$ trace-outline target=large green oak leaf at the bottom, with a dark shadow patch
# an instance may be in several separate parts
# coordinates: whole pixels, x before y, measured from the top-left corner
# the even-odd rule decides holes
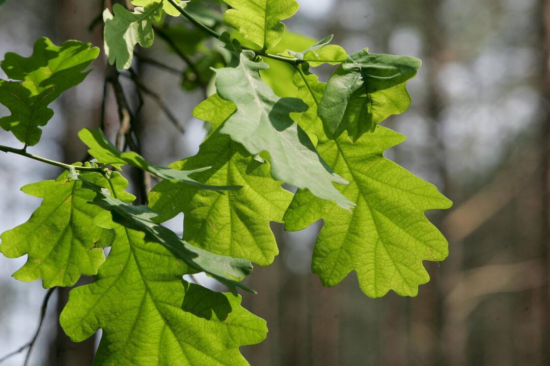
[[[145,233],[116,227],[94,283],[70,291],[59,322],[73,341],[103,335],[94,365],[248,365],[239,347],[266,337],[241,297],[189,284],[188,266]]]

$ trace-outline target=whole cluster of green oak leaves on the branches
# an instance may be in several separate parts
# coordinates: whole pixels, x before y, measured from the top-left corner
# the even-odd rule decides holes
[[[133,10],[115,4],[103,13],[105,52],[119,70],[131,66],[136,44],[151,46],[155,24],[178,52],[199,60],[195,80],[182,74],[184,88],[197,78],[215,88],[194,110],[211,125],[199,153],[155,166],[102,131],[83,129],[94,160],[23,187],[42,205],[1,236],[5,256],[28,256],[19,280],[50,288],[97,275],[70,292],[61,315],[75,341],[103,329],[97,365],[246,364],[238,348],[262,341],[267,328],[240,306],[237,287],[251,291],[240,282],[251,262],[267,266],[278,254],[271,221],[300,230],[323,219],[312,271],[327,286],[355,271],[371,297],[415,296],[429,279],[422,261],[448,254],[424,212],[450,201],[383,156],[405,138],[378,126],[409,108],[405,84],[420,61],[367,49],[348,55],[332,36],[315,43],[285,32],[281,20],[298,10],[295,0],[224,2],[231,8],[223,18],[199,2],[186,11],[188,2],[178,0],[133,0]],[[210,26],[216,40],[210,47],[206,37],[188,40],[196,29],[162,25],[163,12]],[[90,44],[47,38],[29,58],[8,53],[1,66],[12,80],[0,80],[0,103],[11,115],[0,126],[25,149],[35,145],[53,116],[48,104],[83,81],[98,54]],[[322,64],[338,65],[327,83],[310,71]],[[124,166],[160,178],[149,206],[133,204],[126,179],[108,168]],[[183,239],[161,226],[180,212]],[[182,279],[197,272],[231,293]]]

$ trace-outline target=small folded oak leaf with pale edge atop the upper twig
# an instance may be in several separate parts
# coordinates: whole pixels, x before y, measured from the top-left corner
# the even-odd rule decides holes
[[[305,49],[303,52],[287,50],[283,52],[282,55],[288,57],[294,56],[299,60],[306,61],[312,67],[322,64],[341,64],[348,59],[348,53],[337,44],[328,44],[332,41],[333,37],[333,35],[329,35],[313,44],[313,46]]]

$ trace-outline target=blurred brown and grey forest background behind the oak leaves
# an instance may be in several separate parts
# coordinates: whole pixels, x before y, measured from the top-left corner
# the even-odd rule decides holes
[[[218,10],[204,12],[197,2],[191,2],[192,10],[215,26],[220,5],[202,1]],[[392,292],[369,299],[353,273],[330,289],[311,274],[322,223],[299,233],[273,224],[281,254],[270,267],[256,266],[248,279],[260,294],[244,295],[245,307],[267,319],[270,333],[262,344],[244,347],[245,356],[252,365],[266,366],[550,364],[550,1],[299,2],[298,14],[285,21],[290,31],[317,39],[334,33],[334,43],[348,53],[368,47],[423,60],[409,83],[411,108],[384,123],[408,140],[386,156],[454,201],[451,210],[428,212],[449,239],[450,256],[425,262],[432,279],[420,286],[419,296]],[[102,3],[7,0],[0,6],[0,55],[28,56],[41,36],[56,44],[78,39],[102,46],[102,22],[96,18]],[[121,80],[134,110],[139,94],[143,97],[137,115],[142,154],[169,164],[195,154],[206,136],[191,110],[211,89],[208,67],[223,64],[223,55],[200,46],[202,35],[183,20],[172,19],[156,37],[152,48],[139,49],[134,64],[141,93],[129,77]],[[195,70],[174,47],[191,54]],[[56,115],[32,153],[65,162],[85,159],[75,136],[83,127],[100,125],[108,71],[103,53],[93,67],[84,83],[53,104]],[[289,72],[280,65],[273,69]],[[317,71],[326,81],[332,69]],[[5,77],[1,71],[0,77]],[[278,79],[266,75],[276,92],[288,92]],[[112,89],[107,91],[105,123],[112,134],[118,115]],[[157,103],[157,96],[166,105]],[[1,131],[0,144],[20,145]],[[0,232],[25,222],[40,205],[19,188],[59,173],[2,154]],[[168,226],[182,233],[182,221],[180,215]],[[24,262],[0,256],[0,357],[28,342],[40,318],[46,294],[40,281],[10,278]],[[98,336],[73,344],[59,329],[66,297],[67,290],[54,292],[30,365],[91,365]],[[2,366],[22,365],[24,356]]]

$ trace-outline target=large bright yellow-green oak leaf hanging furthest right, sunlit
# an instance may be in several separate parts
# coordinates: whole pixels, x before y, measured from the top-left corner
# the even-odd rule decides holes
[[[301,82],[295,79],[296,86],[301,95],[310,93],[304,100],[316,109],[325,85],[315,75],[303,75]],[[334,162],[335,170],[350,181],[340,191],[357,203],[353,212],[345,212],[306,190],[294,196],[284,216],[287,230],[324,220],[313,251],[312,271],[325,286],[334,286],[356,271],[368,296],[382,297],[389,290],[416,296],[418,286],[430,279],[422,261],[442,261],[448,255],[447,240],[424,212],[448,209],[452,202],[432,184],[382,155],[403,142],[401,134],[378,126],[352,143],[346,133],[335,140],[324,136],[313,113],[304,115],[300,123],[318,136],[321,156]]]

